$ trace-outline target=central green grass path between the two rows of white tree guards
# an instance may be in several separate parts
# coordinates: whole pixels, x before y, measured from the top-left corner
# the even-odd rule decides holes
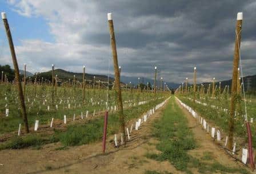
[[[219,164],[208,152],[205,152],[202,159],[189,155],[188,151],[196,148],[197,143],[193,132],[187,126],[185,115],[174,100],[171,98],[162,118],[154,124],[154,136],[159,139],[156,147],[161,154],[146,154],[147,158],[168,160],[176,169],[186,173],[192,173],[191,168],[196,168],[199,173],[249,173],[243,168],[230,168]],[[213,163],[209,163],[209,160]]]

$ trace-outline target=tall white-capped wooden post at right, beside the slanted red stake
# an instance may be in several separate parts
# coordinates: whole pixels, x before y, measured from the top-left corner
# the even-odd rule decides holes
[[[231,100],[230,100],[230,118],[229,118],[229,140],[227,147],[231,150],[233,146],[233,135],[234,135],[234,113],[235,103],[237,96],[237,77],[238,77],[238,65],[239,65],[239,49],[241,43],[241,32],[242,32],[242,20],[243,13],[237,14],[237,26],[235,27],[235,50],[233,60],[233,78],[231,86]]]

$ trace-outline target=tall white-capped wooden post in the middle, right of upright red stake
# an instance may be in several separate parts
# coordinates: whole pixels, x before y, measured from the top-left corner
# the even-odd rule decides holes
[[[115,45],[115,34],[114,34],[114,23],[112,19],[112,14],[107,14],[107,20],[109,22],[110,40],[112,47],[113,63],[115,70],[115,92],[117,93],[118,102],[118,113],[119,113],[119,132],[121,137],[123,136],[124,143],[126,144],[125,138],[125,115],[123,114],[123,103],[122,103],[122,93],[120,88],[120,74],[118,71],[118,59],[117,59],[117,47]]]

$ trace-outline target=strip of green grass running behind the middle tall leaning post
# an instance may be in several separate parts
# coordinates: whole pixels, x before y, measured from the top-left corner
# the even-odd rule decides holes
[[[160,100],[158,101],[160,102]],[[125,121],[133,118],[141,117],[141,115],[151,109],[155,105],[154,102],[145,105],[134,106],[133,109],[124,110]],[[54,130],[53,135],[29,134],[25,136],[15,136],[15,138],[7,140],[0,144],[0,150],[3,149],[20,149],[26,147],[41,148],[44,144],[61,142],[64,147],[80,146],[89,144],[102,139],[104,118],[98,117],[89,120],[87,123],[78,123],[76,125],[67,126],[67,130]],[[109,113],[107,135],[113,135],[119,129],[119,119],[117,113]],[[61,150],[59,148],[57,150]]]

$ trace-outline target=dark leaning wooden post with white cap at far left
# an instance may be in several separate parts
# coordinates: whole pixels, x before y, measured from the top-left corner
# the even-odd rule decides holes
[[[21,113],[22,113],[22,118],[25,126],[25,131],[26,133],[29,133],[29,124],[27,123],[27,112],[26,112],[26,105],[25,105],[25,100],[22,92],[22,85],[21,81],[19,81],[19,67],[18,67],[18,62],[15,54],[15,49],[13,45],[13,38],[11,37],[11,30],[9,27],[8,20],[6,18],[6,14],[2,13],[2,19],[3,19],[3,24],[5,25],[5,30],[6,30],[6,35],[9,41],[9,46],[10,46],[10,51],[11,51],[11,58],[13,59],[13,67],[14,67],[14,72],[15,72],[15,77],[17,79],[17,87],[18,87],[18,94],[19,94],[19,101],[20,101],[20,106],[21,106]]]

